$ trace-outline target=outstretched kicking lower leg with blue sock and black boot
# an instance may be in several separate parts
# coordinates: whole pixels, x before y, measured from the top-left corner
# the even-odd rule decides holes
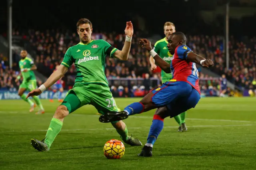
[[[156,109],[156,105],[152,103],[151,97],[154,94],[152,92],[148,93],[140,102],[135,102],[128,105],[124,108],[124,111],[120,112],[110,112],[105,115],[101,115],[99,121],[102,123],[109,123],[114,121],[121,121],[127,119],[130,115],[135,115],[138,113],[143,113],[150,111],[152,109]]]

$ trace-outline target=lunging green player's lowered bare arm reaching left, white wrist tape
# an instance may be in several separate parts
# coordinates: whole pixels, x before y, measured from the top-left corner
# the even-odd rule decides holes
[[[56,71],[54,71],[50,77],[46,80],[46,82],[41,85],[39,88],[32,90],[28,93],[27,97],[30,96],[38,96],[40,95],[43,91],[45,91],[47,88],[51,87],[58,79],[64,76],[64,74],[68,71],[68,68],[65,67],[64,65],[60,65]]]

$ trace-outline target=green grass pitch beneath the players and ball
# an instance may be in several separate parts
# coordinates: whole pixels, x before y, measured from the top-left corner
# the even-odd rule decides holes
[[[120,109],[138,98],[116,99]],[[38,152],[31,138],[43,139],[60,103],[42,100],[43,115],[29,113],[22,100],[0,101],[0,169],[85,170],[255,170],[256,98],[202,98],[187,112],[187,132],[176,132],[174,119],[153,148],[153,157],[138,157],[142,147],[125,144],[120,160],[104,157],[107,140],[120,139],[111,124],[100,123],[94,107],[84,106],[64,119],[50,152]],[[146,142],[153,111],[126,119],[129,134]]]

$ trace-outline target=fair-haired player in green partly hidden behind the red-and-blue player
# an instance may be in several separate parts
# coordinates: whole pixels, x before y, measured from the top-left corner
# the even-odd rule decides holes
[[[154,51],[159,54],[159,56],[164,59],[167,63],[172,62],[172,55],[167,49],[167,39],[168,37],[176,32],[175,26],[172,22],[166,22],[164,24],[164,34],[165,38],[157,41],[154,45]],[[151,70],[156,69],[155,60],[152,56],[150,56],[150,64],[151,64]],[[172,79],[172,73],[165,73],[163,70],[161,71],[161,77],[162,77],[162,83],[165,83],[166,81],[170,81]],[[181,113],[180,115],[174,117],[176,122],[179,124],[178,132],[184,132],[187,130],[186,123],[185,123],[185,117],[186,112]]]

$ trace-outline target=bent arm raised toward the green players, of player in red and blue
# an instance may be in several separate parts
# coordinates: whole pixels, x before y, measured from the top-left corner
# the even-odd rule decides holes
[[[140,39],[140,44],[142,47],[145,47],[152,57],[154,57],[154,60],[156,61],[157,65],[164,70],[166,73],[171,73],[170,64],[164,61],[151,47],[150,41],[148,41],[146,38]]]

